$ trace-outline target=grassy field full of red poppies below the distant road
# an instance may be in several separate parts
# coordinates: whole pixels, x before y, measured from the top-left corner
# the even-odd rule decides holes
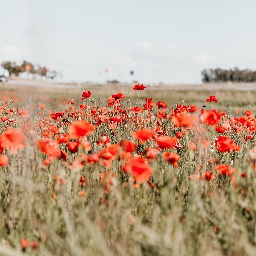
[[[1,92],[0,255],[256,255],[254,96],[129,91]]]

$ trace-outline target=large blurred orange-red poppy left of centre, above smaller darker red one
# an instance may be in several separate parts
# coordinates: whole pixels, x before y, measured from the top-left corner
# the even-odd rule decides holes
[[[92,134],[94,127],[86,121],[76,121],[68,128],[68,134],[72,139]]]

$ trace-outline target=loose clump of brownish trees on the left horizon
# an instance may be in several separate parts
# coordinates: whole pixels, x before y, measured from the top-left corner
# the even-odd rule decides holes
[[[47,67],[34,65],[31,62],[23,60],[21,65],[16,64],[16,62],[4,61],[1,64],[2,68],[5,68],[9,71],[9,74],[12,76],[19,76],[20,73],[28,72],[33,76],[39,75],[41,77],[46,76],[46,73],[49,71]],[[26,67],[29,66],[29,70]]]

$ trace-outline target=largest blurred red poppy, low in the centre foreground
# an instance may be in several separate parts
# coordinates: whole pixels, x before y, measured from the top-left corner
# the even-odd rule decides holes
[[[142,158],[130,158],[126,161],[123,166],[124,172],[128,172],[134,177],[134,180],[141,184],[147,181],[148,178],[153,174],[152,167],[148,164],[145,159]]]

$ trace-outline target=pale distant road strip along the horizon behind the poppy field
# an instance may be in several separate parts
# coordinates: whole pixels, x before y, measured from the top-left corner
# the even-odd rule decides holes
[[[124,88],[130,85],[128,84],[106,84],[106,85],[94,85],[94,84],[82,84],[77,86],[74,84],[62,84],[54,83],[50,81],[42,80],[9,80],[7,83],[0,83],[5,87],[11,86],[20,87],[40,87],[48,89],[81,89],[81,88]],[[238,91],[252,91],[256,90],[256,83],[208,83],[208,84],[163,84],[156,86],[147,86],[147,90],[238,90]]]

